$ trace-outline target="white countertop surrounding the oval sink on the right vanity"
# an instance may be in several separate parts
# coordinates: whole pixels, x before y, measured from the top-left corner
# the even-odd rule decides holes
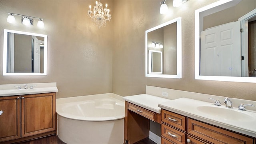
[[[159,103],[158,106],[162,109],[169,110],[171,112],[175,112],[184,116],[188,116],[190,118],[194,118],[196,120],[200,120],[209,124],[213,124],[216,126],[220,126],[222,128],[226,128],[228,130],[233,130],[235,132],[239,132],[242,134],[246,134],[248,136],[256,137],[256,112],[255,111],[241,111],[238,108],[234,108],[232,110],[241,112],[243,114],[250,114],[252,119],[248,120],[226,120],[223,118],[223,113],[220,114],[222,116],[218,116],[218,114],[207,114],[198,110],[198,106],[207,106],[214,108],[225,108],[224,105],[218,107],[213,103],[203,102],[200,100],[194,100],[190,98],[178,98],[176,100],[169,100],[167,102]],[[211,112],[209,112],[211,113]],[[249,117],[250,118],[250,117]]]

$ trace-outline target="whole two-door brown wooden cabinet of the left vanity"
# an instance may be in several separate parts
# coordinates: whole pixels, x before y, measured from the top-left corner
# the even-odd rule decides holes
[[[0,97],[1,144],[56,134],[55,94]]]

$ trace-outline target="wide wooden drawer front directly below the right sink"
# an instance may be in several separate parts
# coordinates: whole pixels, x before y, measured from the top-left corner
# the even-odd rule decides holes
[[[243,136],[188,118],[188,134],[214,144],[253,144],[254,138]]]

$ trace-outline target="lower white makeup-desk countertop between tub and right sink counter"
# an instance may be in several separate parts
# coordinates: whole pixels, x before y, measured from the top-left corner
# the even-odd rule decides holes
[[[161,98],[161,97],[152,96],[149,94],[124,96],[123,99],[126,100],[127,102],[136,104],[138,106],[141,106],[142,108],[146,108],[146,109],[151,110],[152,112],[156,112],[158,114],[161,114],[161,108],[158,107],[158,104],[161,102],[171,101],[170,99],[167,99],[167,98]]]

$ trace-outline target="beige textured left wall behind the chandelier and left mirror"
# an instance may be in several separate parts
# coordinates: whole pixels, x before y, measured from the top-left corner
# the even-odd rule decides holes
[[[108,3],[110,13],[112,1]],[[112,92],[112,21],[105,28],[87,16],[90,0],[0,0],[0,84],[57,82],[57,98]],[[44,18],[44,29],[6,22],[7,12]],[[4,29],[48,35],[47,76],[2,76]]]

